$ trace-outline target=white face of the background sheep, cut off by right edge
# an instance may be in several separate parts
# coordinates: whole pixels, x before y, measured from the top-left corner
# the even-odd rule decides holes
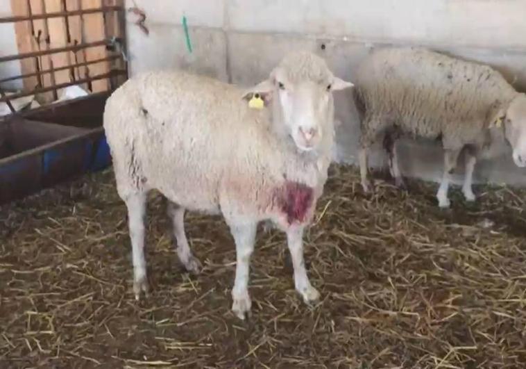
[[[504,117],[506,139],[513,149],[514,162],[518,167],[526,167],[526,95],[516,97]]]

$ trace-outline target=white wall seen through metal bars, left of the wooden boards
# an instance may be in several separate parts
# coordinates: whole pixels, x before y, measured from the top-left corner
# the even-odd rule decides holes
[[[10,0],[0,0],[0,17],[9,17],[10,15],[12,15]],[[0,24],[0,35],[0,56],[18,54],[15,26],[12,23]],[[18,76],[19,74],[20,63],[18,60],[0,64],[0,79]],[[20,90],[22,89],[22,80],[3,83],[2,87],[8,90]]]

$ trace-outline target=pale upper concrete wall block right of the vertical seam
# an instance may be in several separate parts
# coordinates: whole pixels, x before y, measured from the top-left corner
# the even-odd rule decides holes
[[[521,48],[522,0],[226,0],[230,28],[350,40]]]

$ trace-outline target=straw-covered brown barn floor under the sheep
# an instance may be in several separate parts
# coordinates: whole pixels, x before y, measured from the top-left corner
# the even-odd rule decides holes
[[[253,314],[230,313],[235,249],[221,218],[190,214],[205,268],[180,267],[164,202],[148,226],[151,295],[135,302],[126,210],[109,170],[0,208],[1,368],[520,368],[526,362],[526,191],[476,188],[436,207],[332,167],[306,240],[322,293],[294,292],[284,237],[259,233]]]

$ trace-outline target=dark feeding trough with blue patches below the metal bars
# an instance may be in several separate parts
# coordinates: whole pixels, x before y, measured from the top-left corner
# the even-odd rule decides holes
[[[90,95],[3,120],[0,204],[108,166],[102,128],[107,97]]]

